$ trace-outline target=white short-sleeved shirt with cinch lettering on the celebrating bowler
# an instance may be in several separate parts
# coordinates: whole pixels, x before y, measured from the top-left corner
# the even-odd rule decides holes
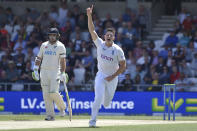
[[[105,41],[99,37],[94,43],[97,47],[98,70],[106,75],[112,75],[118,70],[119,61],[125,60],[123,50],[116,44],[107,47]]]

